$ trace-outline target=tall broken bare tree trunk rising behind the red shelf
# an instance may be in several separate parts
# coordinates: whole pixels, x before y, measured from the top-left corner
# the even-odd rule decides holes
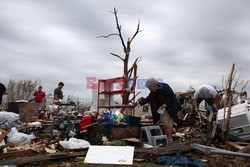
[[[102,36],[99,36],[99,37],[101,37],[101,38],[109,38],[111,36],[118,36],[120,41],[121,41],[124,56],[120,56],[120,55],[115,54],[115,53],[110,53],[110,54],[117,57],[117,58],[119,58],[123,62],[123,77],[127,78],[127,80],[125,81],[123,86],[124,86],[124,88],[130,89],[130,92],[127,92],[124,95],[123,98],[124,98],[124,103],[129,104],[134,98],[134,97],[132,97],[132,99],[129,99],[129,95],[133,91],[135,91],[136,80],[138,78],[138,76],[137,76],[137,65],[141,61],[141,57],[137,57],[135,59],[134,63],[132,64],[132,66],[129,68],[128,64],[129,64],[129,56],[130,56],[130,51],[131,51],[131,43],[134,40],[134,38],[137,36],[137,34],[142,31],[142,30],[140,30],[140,20],[138,21],[137,28],[136,28],[136,31],[133,34],[133,36],[129,37],[127,39],[127,42],[125,42],[125,40],[123,38],[123,35],[122,35],[122,26],[120,25],[119,19],[118,19],[118,14],[117,14],[118,10],[116,10],[116,8],[114,8],[114,10],[110,11],[110,12],[115,15],[117,33],[111,33],[111,34],[102,35]],[[132,78],[132,80],[131,80],[131,78]],[[129,84],[131,82],[132,82],[132,84]],[[130,86],[130,87],[128,87],[128,86]]]

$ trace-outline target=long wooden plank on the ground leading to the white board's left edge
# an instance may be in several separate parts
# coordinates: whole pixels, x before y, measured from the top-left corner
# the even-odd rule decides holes
[[[58,159],[66,159],[66,158],[72,158],[72,157],[81,157],[85,156],[87,154],[86,151],[84,152],[75,152],[75,153],[61,153],[61,154],[55,154],[55,155],[35,155],[31,157],[22,157],[22,158],[15,158],[15,159],[9,159],[0,161],[0,165],[16,165],[16,166],[23,166],[28,164],[34,164],[34,163],[40,163],[45,161],[51,161],[51,160],[58,160]]]

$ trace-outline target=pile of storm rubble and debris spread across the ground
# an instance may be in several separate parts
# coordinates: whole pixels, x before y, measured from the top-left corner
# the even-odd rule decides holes
[[[44,162],[63,160],[62,166],[77,163],[81,166],[89,148],[94,145],[107,149],[109,146],[131,146],[134,148],[132,161],[142,166],[144,163],[164,163],[159,157],[171,159],[180,156],[190,162],[199,160],[200,165],[243,166],[250,163],[249,142],[223,142],[219,133],[211,139],[205,112],[194,117],[181,112],[174,124],[174,142],[156,146],[143,143],[140,134],[141,126],[152,124],[148,115],[130,126],[111,125],[104,121],[105,116],[96,120],[92,112],[82,115],[79,112],[59,112],[51,119],[24,123],[19,114],[1,111],[0,118],[0,165],[42,166]]]

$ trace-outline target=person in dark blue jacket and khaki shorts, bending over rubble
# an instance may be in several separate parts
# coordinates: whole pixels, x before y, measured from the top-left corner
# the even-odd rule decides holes
[[[168,84],[149,78],[145,85],[150,93],[146,98],[141,98],[139,104],[143,106],[150,103],[154,124],[160,120],[168,141],[172,142],[173,120],[177,118],[181,105]],[[164,112],[159,114],[157,112],[159,109],[164,110]]]

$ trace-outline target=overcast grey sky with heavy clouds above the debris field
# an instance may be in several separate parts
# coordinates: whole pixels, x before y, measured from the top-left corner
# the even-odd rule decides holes
[[[86,77],[123,72],[110,55],[123,54],[119,39],[96,38],[116,32],[114,7],[125,39],[141,20],[131,52],[131,63],[143,58],[140,78],[163,78],[174,91],[220,89],[236,63],[250,79],[249,0],[0,0],[0,82],[37,79],[51,91],[63,81],[65,94],[90,99]]]

